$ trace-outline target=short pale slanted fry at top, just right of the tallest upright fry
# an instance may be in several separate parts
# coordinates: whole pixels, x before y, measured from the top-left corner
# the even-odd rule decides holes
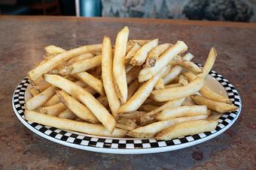
[[[158,44],[158,38],[151,40],[148,43],[145,43],[145,45],[143,45],[137,52],[136,55],[134,55],[134,57],[132,58],[132,60],[130,61],[130,64],[136,65],[136,66],[140,66],[142,65],[147,56],[148,53],[151,52],[151,49],[153,49],[155,46],[157,46]]]

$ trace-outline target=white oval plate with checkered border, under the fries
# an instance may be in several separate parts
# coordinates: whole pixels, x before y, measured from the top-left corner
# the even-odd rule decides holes
[[[235,112],[226,112],[218,119],[218,126],[212,132],[200,133],[193,136],[183,136],[169,141],[158,141],[156,139],[131,139],[131,138],[108,138],[102,136],[90,136],[84,133],[72,132],[69,130],[59,130],[55,127],[47,127],[41,124],[26,121],[24,119],[25,99],[29,98],[29,81],[27,78],[20,82],[14,91],[12,105],[17,118],[32,132],[45,139],[87,151],[95,151],[111,154],[150,154],[166,151],[174,151],[187,148],[206,142],[215,136],[224,133],[236,121],[241,112],[241,99],[236,88],[227,79],[215,71],[211,71],[211,76],[207,76],[206,84],[215,92],[227,96],[235,106]]]

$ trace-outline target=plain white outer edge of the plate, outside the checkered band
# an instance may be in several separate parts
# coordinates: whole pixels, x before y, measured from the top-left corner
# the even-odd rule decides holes
[[[218,74],[214,70],[211,70],[211,73],[215,73],[216,75],[221,76],[220,74]],[[212,76],[211,73],[209,73],[210,76]],[[212,76],[212,78],[219,82],[219,80],[216,79],[214,76]],[[22,81],[20,81],[20,84],[25,79],[26,78],[24,78]],[[221,79],[225,79],[224,76],[221,76]],[[230,82],[228,82],[228,80],[227,80],[227,83],[230,84]],[[221,82],[219,82],[219,84],[227,92],[227,90],[224,87],[224,85],[222,85]],[[98,153],[108,153],[108,154],[154,154],[154,153],[160,153],[160,152],[166,152],[166,151],[175,151],[175,150],[182,149],[182,148],[187,148],[187,147],[190,147],[190,146],[193,146],[193,145],[198,145],[200,143],[209,141],[209,140],[215,138],[216,136],[219,136],[221,133],[224,133],[224,131],[228,130],[235,123],[235,121],[239,117],[240,112],[242,110],[242,100],[241,100],[241,97],[240,97],[238,91],[236,90],[236,88],[232,84],[230,84],[236,90],[237,96],[239,97],[239,109],[238,109],[238,111],[236,111],[236,117],[233,118],[233,120],[230,121],[230,123],[228,123],[225,127],[221,128],[221,130],[218,130],[218,131],[216,131],[215,133],[212,133],[209,136],[205,136],[205,137],[203,137],[201,139],[197,139],[197,140],[194,140],[192,142],[180,143],[178,145],[166,145],[166,146],[157,147],[157,148],[99,148],[99,147],[96,147],[96,146],[81,145],[81,144],[78,145],[78,144],[75,144],[75,143],[72,143],[72,142],[62,141],[62,140],[56,139],[56,138],[54,138],[52,136],[48,136],[47,134],[42,133],[41,131],[37,130],[35,127],[32,127],[32,125],[29,124],[29,122],[26,121],[20,115],[19,112],[17,112],[17,108],[14,105],[14,95],[17,92],[17,88],[19,87],[19,85],[17,85],[17,87],[15,88],[13,96],[12,96],[12,107],[14,109],[15,115],[21,121],[21,123],[23,125],[25,125],[25,127],[27,127],[29,130],[31,130],[36,135],[41,136],[44,139],[50,140],[51,142],[55,142],[55,143],[58,143],[60,145],[65,145],[65,146],[72,147],[72,148],[77,148],[77,149],[81,149],[81,150],[85,150],[85,151],[94,151],[94,152],[98,152]],[[56,129],[58,129],[58,128],[56,128]],[[84,134],[84,135],[86,136],[86,134]],[[99,139],[100,139],[100,137],[101,136],[99,136]],[[130,139],[130,140],[134,140],[134,139]]]

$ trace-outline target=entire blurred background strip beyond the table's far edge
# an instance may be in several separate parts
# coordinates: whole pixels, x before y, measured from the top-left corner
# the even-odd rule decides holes
[[[256,0],[0,0],[0,14],[256,22]]]

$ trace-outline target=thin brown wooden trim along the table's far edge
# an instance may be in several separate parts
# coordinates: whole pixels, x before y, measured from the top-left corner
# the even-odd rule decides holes
[[[0,16],[0,19],[26,19],[26,20],[84,20],[96,22],[126,22],[126,23],[159,23],[174,25],[203,25],[234,28],[256,28],[256,23],[250,22],[221,22],[221,21],[200,21],[181,19],[145,19],[145,18],[108,18],[108,17],[77,17],[77,16]]]

